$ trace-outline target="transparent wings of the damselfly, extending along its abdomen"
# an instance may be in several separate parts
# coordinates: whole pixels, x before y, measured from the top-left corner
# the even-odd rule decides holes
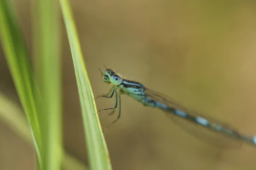
[[[169,96],[160,94],[150,89],[145,89],[144,92],[148,98],[156,102],[160,102],[169,108],[174,108],[185,112],[189,119],[183,116],[179,116],[173,112],[165,111],[166,116],[168,116],[172,122],[180,126],[183,130],[191,133],[198,139],[201,139],[202,141],[223,148],[241,147],[243,141],[256,145],[254,137],[245,136],[242,133],[238,133],[235,129],[228,125],[218,122],[215,119],[209,118],[197,111],[192,111],[183,105],[180,105],[177,101],[170,98]],[[206,126],[196,122],[194,118],[198,117],[207,120],[209,125]]]

